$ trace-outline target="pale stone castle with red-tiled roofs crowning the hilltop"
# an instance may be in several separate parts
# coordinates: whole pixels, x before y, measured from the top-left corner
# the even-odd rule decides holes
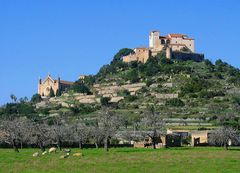
[[[134,53],[123,57],[123,61],[126,63],[132,61],[145,63],[149,57],[156,56],[163,50],[166,51],[168,59],[172,58],[172,52],[185,51],[195,54],[195,40],[185,34],[160,36],[159,31],[152,31],[149,35],[149,47],[135,48]]]

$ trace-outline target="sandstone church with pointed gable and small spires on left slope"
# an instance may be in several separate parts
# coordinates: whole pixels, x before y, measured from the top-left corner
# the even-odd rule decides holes
[[[51,77],[51,75],[48,75],[44,81],[42,81],[42,79],[39,79],[38,94],[40,94],[42,97],[47,97],[49,96],[50,90],[52,88],[54,94],[56,95],[57,91],[63,92],[71,85],[73,85],[73,82],[61,80],[60,77],[55,80]]]

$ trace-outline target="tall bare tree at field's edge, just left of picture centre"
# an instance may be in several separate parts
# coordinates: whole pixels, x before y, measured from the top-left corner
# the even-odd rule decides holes
[[[102,107],[98,121],[99,128],[104,136],[104,149],[108,151],[109,139],[116,134],[117,129],[121,125],[121,121],[119,121],[119,116],[108,107]]]

